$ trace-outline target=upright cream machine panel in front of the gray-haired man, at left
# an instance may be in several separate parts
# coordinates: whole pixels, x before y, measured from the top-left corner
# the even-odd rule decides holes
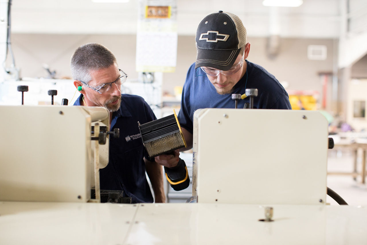
[[[1,106],[0,115],[0,201],[90,199],[90,126],[106,109]]]

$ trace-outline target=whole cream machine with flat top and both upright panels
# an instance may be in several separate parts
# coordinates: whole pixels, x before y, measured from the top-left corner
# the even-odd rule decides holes
[[[367,242],[366,206],[326,203],[328,133],[319,112],[197,111],[197,202],[139,204],[87,202],[93,112],[21,105],[0,112],[0,244]],[[39,157],[29,161],[34,151]],[[48,179],[28,181],[42,174]]]

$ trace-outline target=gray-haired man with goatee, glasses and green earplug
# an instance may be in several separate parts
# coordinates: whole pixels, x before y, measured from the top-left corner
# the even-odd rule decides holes
[[[105,107],[109,111],[110,130],[120,129],[119,138],[110,138],[109,163],[100,169],[101,190],[119,190],[133,203],[153,202],[145,171],[156,202],[165,202],[163,171],[149,159],[143,146],[138,121],[156,119],[142,97],[121,94],[127,74],[119,69],[115,55],[97,43],[77,48],[70,61],[74,85],[80,96],[74,105]]]

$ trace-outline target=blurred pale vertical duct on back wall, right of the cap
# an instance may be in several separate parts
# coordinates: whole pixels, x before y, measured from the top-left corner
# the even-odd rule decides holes
[[[279,8],[269,7],[269,36],[266,40],[266,55],[274,59],[280,52],[280,20]]]

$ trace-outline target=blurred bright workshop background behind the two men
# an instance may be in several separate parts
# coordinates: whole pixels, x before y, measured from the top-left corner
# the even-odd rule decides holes
[[[162,33],[160,25],[165,21],[162,19],[155,23],[158,27],[153,33],[155,38],[160,35],[162,38],[156,45],[173,44],[159,50],[160,57],[171,57],[172,52],[177,55],[171,72],[137,71],[141,65],[137,53],[142,52],[137,48],[137,37],[146,34],[141,31],[142,25],[147,24],[141,13],[147,3],[171,6],[170,30]],[[0,104],[20,104],[19,92],[11,84],[34,84],[37,88],[32,91],[29,85],[25,104],[49,104],[50,98],[44,91],[55,87],[59,90],[55,104],[61,104],[64,98],[61,95],[75,100],[72,100],[75,87],[68,80],[70,57],[78,46],[97,42],[116,55],[120,69],[128,74],[124,92],[144,97],[157,118],[171,114],[172,108],[178,112],[186,72],[196,58],[197,25],[210,12],[232,12],[247,29],[251,43],[248,60],[275,75],[288,91],[293,109],[320,110],[329,120],[335,148],[329,150],[327,186],[350,205],[366,205],[362,167],[367,148],[367,2],[305,0],[299,7],[269,7],[262,3],[262,0],[126,3],[13,0],[12,52],[8,52],[3,63],[9,72],[0,81]],[[153,51],[146,48],[144,53]],[[15,81],[19,79],[22,81]],[[30,94],[39,96],[34,100]],[[182,158],[190,166],[192,154],[182,153]],[[189,189],[167,193],[168,200],[185,201],[191,196]],[[328,201],[333,203],[331,199]]]

